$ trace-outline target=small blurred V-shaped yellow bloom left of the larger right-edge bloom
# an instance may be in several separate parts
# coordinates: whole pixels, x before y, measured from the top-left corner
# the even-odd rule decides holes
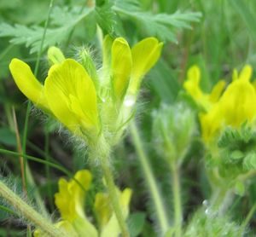
[[[189,67],[187,80],[183,83],[183,87],[200,107],[208,111],[212,105],[218,101],[219,96],[224,90],[225,82],[224,80],[220,80],[218,84],[212,88],[211,93],[207,94],[201,90],[200,81],[200,68],[196,65],[191,66]]]

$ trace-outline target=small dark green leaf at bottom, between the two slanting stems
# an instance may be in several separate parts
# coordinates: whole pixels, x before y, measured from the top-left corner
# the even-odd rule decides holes
[[[131,237],[135,237],[143,231],[146,215],[144,212],[132,213],[128,218],[128,228]]]

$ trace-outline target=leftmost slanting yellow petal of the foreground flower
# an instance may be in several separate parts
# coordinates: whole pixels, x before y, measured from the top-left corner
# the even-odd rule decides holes
[[[9,64],[9,70],[20,91],[38,107],[48,109],[48,104],[44,97],[44,87],[35,78],[30,66],[24,61],[13,59]]]

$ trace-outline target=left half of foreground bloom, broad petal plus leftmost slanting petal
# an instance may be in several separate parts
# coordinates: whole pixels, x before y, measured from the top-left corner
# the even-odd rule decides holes
[[[73,133],[98,132],[96,90],[79,62],[67,59],[51,66],[44,86],[25,62],[13,59],[9,68],[21,92],[35,105],[54,114]]]

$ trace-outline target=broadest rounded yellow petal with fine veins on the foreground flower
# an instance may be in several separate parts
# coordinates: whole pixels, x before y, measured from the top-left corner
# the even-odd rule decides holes
[[[52,113],[70,130],[97,127],[95,86],[77,61],[67,59],[50,68],[45,95]]]

